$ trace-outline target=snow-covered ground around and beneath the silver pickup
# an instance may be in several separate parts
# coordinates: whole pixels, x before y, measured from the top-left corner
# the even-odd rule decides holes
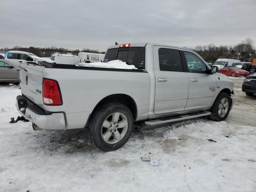
[[[9,124],[18,116],[18,94],[17,86],[0,87],[0,191],[256,191],[254,126],[202,118],[135,130],[124,147],[103,152],[84,130]],[[160,165],[142,162],[142,156]]]

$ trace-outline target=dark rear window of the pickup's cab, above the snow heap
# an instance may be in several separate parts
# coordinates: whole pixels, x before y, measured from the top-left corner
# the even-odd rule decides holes
[[[108,49],[104,62],[121,60],[138,69],[145,69],[145,47],[113,48]]]

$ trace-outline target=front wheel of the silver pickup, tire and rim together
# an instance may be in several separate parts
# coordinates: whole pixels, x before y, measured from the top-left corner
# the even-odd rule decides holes
[[[214,121],[223,121],[227,118],[231,108],[231,98],[226,92],[220,92],[217,96],[210,114],[210,119]]]

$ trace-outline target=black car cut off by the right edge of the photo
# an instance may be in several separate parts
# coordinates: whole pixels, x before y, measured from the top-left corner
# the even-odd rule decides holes
[[[242,85],[242,91],[248,96],[256,94],[256,73],[244,78],[244,83]]]

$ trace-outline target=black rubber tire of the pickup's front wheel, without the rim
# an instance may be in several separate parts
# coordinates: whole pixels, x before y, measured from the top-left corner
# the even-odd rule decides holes
[[[223,98],[226,98],[228,100],[228,111],[226,112],[225,116],[221,117],[218,113],[218,108],[219,108],[220,101]],[[214,101],[214,104],[212,105],[212,108],[211,108],[212,114],[210,114],[209,118],[214,121],[223,121],[227,118],[230,112],[230,108],[231,108],[231,98],[229,94],[227,94],[226,92],[220,92],[220,94],[217,96],[216,100]]]

